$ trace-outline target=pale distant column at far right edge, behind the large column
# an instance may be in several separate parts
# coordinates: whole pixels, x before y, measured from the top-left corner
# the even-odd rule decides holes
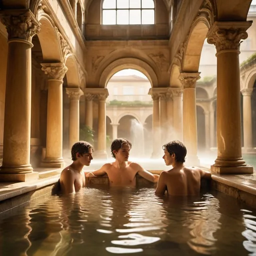
[[[252,151],[252,123],[251,123],[251,93],[253,88],[241,90],[243,101],[243,150]]]

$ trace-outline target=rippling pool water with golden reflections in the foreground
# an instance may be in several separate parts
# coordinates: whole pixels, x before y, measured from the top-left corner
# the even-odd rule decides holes
[[[0,255],[255,255],[256,211],[213,191],[85,188],[0,215]]]

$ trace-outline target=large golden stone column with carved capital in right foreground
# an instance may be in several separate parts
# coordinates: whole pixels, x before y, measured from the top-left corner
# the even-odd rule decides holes
[[[217,57],[217,158],[212,172],[253,173],[241,155],[240,40],[247,37],[251,21],[214,22],[207,42]]]

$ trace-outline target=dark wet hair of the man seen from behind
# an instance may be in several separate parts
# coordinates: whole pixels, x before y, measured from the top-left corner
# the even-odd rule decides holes
[[[185,162],[186,147],[179,140],[172,140],[169,143],[162,146],[162,149],[167,149],[169,154],[175,153],[175,160],[177,162]]]

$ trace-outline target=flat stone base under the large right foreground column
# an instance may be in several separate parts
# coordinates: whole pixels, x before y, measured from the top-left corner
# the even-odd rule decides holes
[[[219,174],[252,174],[253,166],[245,164],[243,166],[227,167],[227,166],[216,166],[213,164],[210,166],[210,170],[213,173],[219,173]]]

